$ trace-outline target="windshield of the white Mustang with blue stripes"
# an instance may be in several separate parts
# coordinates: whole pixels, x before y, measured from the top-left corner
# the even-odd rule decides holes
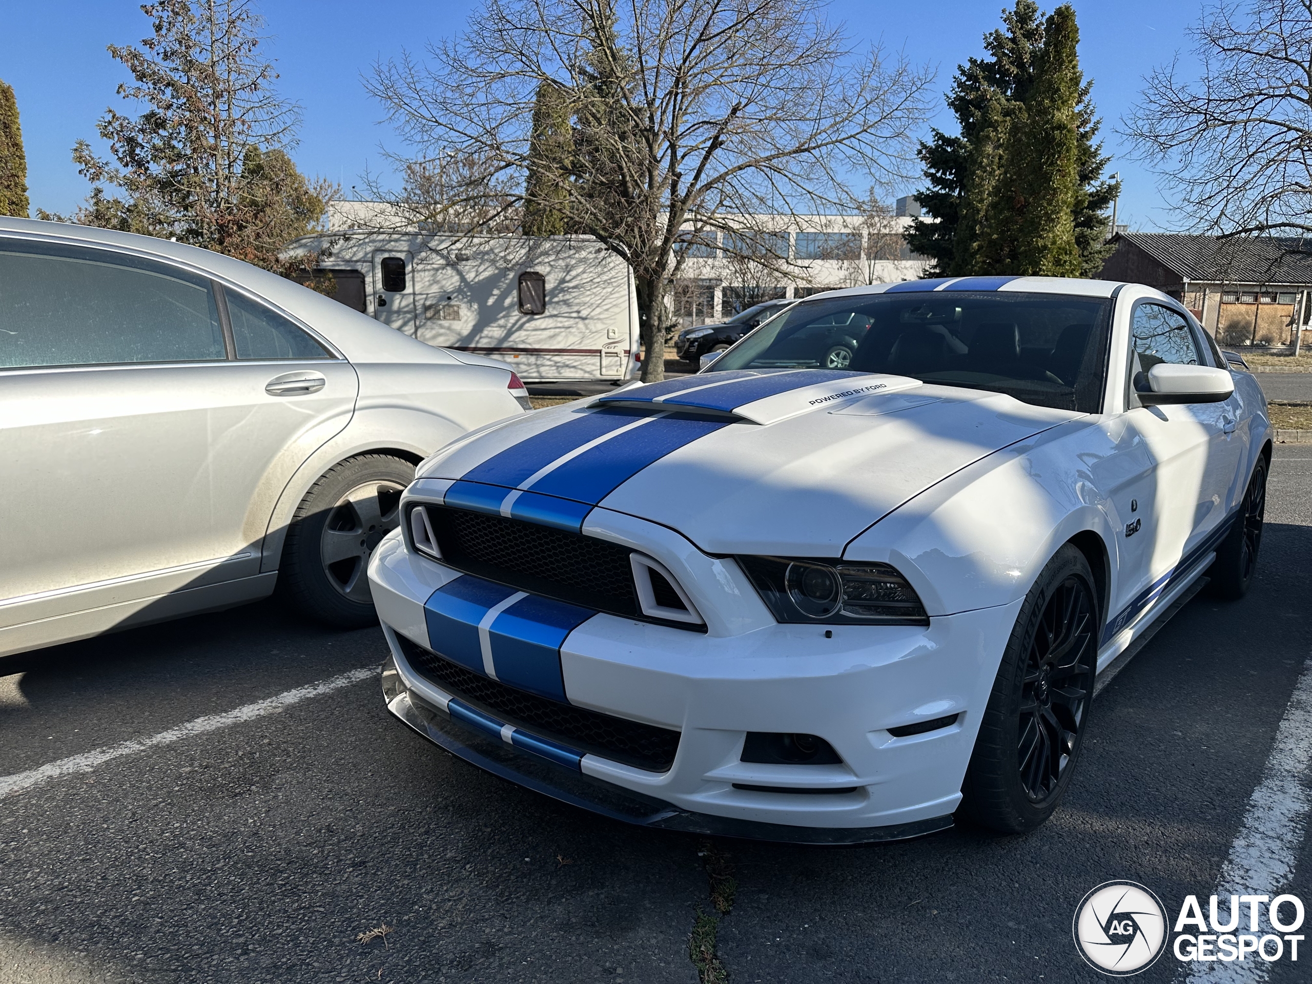
[[[1064,294],[895,291],[804,300],[708,371],[848,369],[1005,392],[1097,413],[1111,300]]]

